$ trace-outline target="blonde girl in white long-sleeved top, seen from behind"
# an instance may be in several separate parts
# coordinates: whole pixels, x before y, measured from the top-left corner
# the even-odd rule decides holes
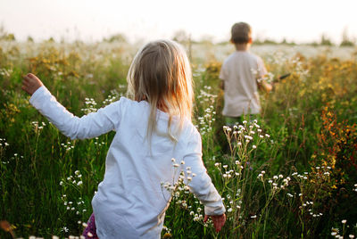
[[[174,159],[176,167],[186,174],[190,167],[195,174],[188,185],[204,204],[204,220],[211,217],[220,231],[225,208],[203,166],[201,136],[191,122],[193,82],[185,51],[169,40],[145,45],[131,63],[128,84],[129,98],[78,118],[35,75],[23,80],[22,89],[32,95],[29,102],[65,136],[83,139],[117,132],[84,235],[160,238],[170,204],[170,192],[162,185],[179,178]]]

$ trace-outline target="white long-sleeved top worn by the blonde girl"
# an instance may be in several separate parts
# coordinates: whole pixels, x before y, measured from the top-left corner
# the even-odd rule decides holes
[[[191,167],[190,190],[204,204],[207,215],[225,212],[220,194],[202,161],[201,136],[186,120],[175,145],[168,136],[153,134],[151,151],[146,140],[150,105],[125,97],[78,118],[40,87],[29,102],[71,139],[91,138],[116,130],[106,156],[104,180],[92,201],[99,238],[160,238],[170,193],[162,183],[173,183],[179,169]],[[159,132],[167,131],[168,115],[157,111]],[[175,120],[174,125],[175,125]],[[95,157],[95,155],[93,155]],[[171,159],[179,168],[174,168]],[[182,165],[180,162],[185,161]]]

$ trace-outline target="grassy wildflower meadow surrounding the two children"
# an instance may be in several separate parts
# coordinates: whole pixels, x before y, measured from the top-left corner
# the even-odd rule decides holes
[[[262,55],[267,80],[291,76],[272,93],[261,93],[257,121],[237,128],[223,128],[220,115],[218,74],[231,46],[189,47],[203,161],[228,219],[217,235],[203,223],[203,205],[179,182],[163,237],[357,235],[357,50],[260,47],[252,51]],[[0,238],[80,235],[114,135],[84,141],[62,136],[29,105],[21,75],[36,73],[81,116],[125,95],[136,50],[108,43],[0,44],[0,220],[10,224],[1,223]]]

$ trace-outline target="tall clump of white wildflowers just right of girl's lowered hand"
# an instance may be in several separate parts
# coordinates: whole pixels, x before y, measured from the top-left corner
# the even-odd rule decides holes
[[[221,194],[225,197],[228,208],[227,235],[256,235],[260,230],[261,220],[267,213],[268,205],[278,194],[281,187],[274,177],[268,179],[266,172],[258,169],[261,162],[256,159],[256,151],[261,144],[266,144],[270,135],[263,132],[255,119],[252,122],[243,121],[243,125],[233,128],[223,127],[229,145],[229,155],[224,155],[223,162],[216,162],[222,179]],[[223,163],[223,164],[222,164]],[[227,164],[226,164],[227,163]],[[262,182],[266,198],[263,207],[257,206],[260,199],[252,200],[253,188],[257,182]],[[254,205],[254,203],[257,203]]]

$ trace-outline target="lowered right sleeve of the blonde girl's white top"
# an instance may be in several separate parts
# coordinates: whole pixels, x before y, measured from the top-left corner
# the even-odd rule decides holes
[[[187,144],[187,154],[184,157],[185,174],[187,177],[192,177],[188,186],[191,192],[203,203],[205,215],[222,215],[226,209],[203,165],[201,136],[196,129],[193,131],[193,135]],[[191,169],[190,175],[187,174],[187,167]]]

